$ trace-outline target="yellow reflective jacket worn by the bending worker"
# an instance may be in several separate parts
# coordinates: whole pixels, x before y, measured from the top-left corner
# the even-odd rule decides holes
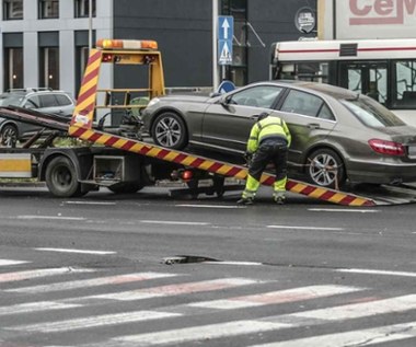
[[[288,147],[290,146],[291,135],[284,119],[268,116],[257,122],[250,132],[247,152],[254,153],[262,140],[276,137],[285,139],[288,142]]]

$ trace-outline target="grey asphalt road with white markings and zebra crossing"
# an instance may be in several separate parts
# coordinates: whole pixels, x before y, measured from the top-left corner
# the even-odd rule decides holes
[[[0,346],[415,346],[415,205],[0,188]]]

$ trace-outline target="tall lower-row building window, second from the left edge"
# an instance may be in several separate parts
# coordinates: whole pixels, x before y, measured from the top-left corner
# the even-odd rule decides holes
[[[41,47],[39,86],[59,89],[59,48]]]

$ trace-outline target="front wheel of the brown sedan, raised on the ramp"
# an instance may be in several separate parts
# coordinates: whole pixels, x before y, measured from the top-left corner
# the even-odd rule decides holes
[[[151,135],[154,143],[171,149],[184,149],[188,141],[184,120],[173,112],[162,113],[154,119]]]

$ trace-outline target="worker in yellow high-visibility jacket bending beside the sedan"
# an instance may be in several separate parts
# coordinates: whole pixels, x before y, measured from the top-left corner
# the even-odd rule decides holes
[[[267,164],[273,162],[276,170],[274,183],[274,200],[285,204],[287,182],[288,148],[291,136],[285,120],[262,113],[254,124],[247,141],[246,157],[249,160],[249,176],[239,205],[252,205],[261,185],[261,176]]]

